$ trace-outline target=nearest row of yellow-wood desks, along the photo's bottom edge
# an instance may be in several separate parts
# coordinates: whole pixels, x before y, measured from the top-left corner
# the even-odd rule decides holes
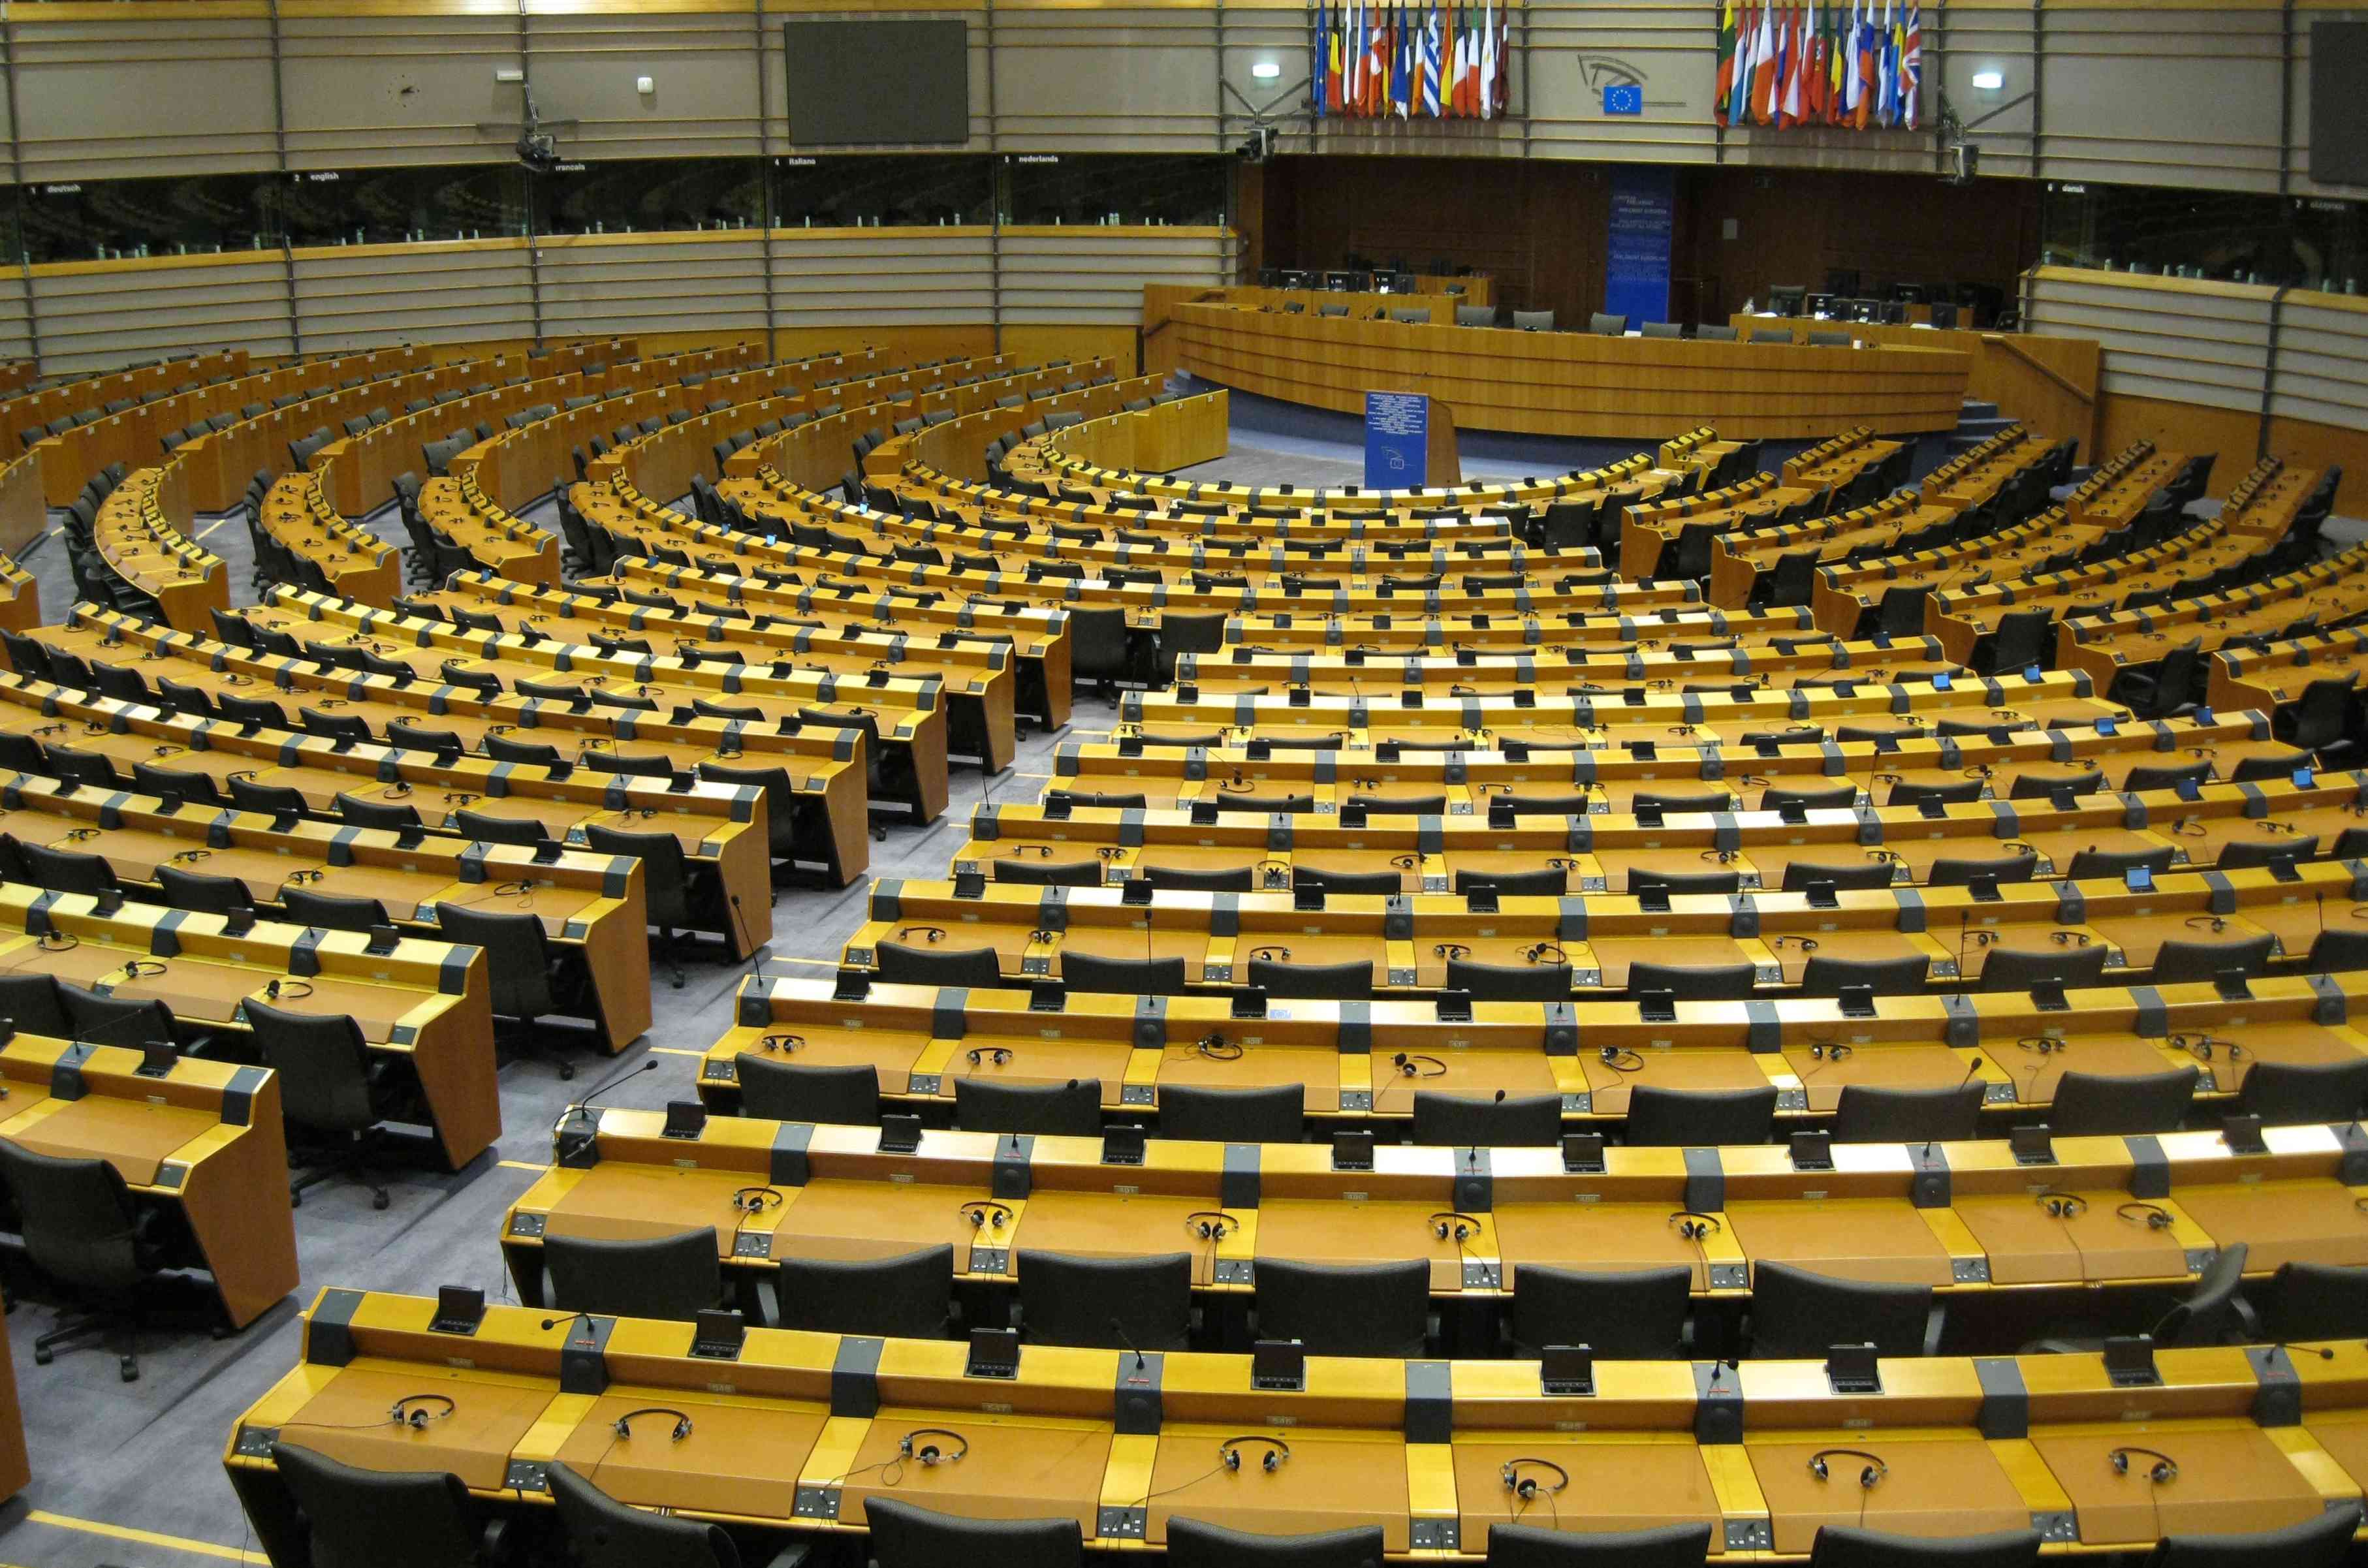
[[[1170,1518],[1255,1532],[1378,1525],[1392,1556],[1478,1561],[1489,1525],[1603,1532],[1703,1523],[1722,1561],[1797,1559],[1819,1525],[1911,1535],[2039,1530],[2051,1549],[2138,1549],[2160,1535],[2266,1530],[2354,1506],[2368,1478],[2368,1352],[2167,1350],[2115,1388],[2100,1357],[1883,1362],[1883,1393],[1833,1393],[1816,1362],[1717,1369],[1606,1362],[1591,1395],[1546,1395],[1537,1362],[1312,1357],[1305,1386],[1253,1388],[1248,1355],[1030,1345],[1016,1379],[964,1376],[964,1345],[751,1329],[729,1362],[691,1355],[691,1324],[583,1319],[542,1329],[488,1307],[466,1334],[436,1300],[324,1291],[303,1360],[249,1407],[225,1466],[272,1561],[303,1525],[272,1445],[386,1471],[443,1469],[488,1504],[535,1514],[554,1461],[675,1516],[798,1532],[860,1530],[871,1497],[971,1518],[1075,1518],[1087,1542],[1160,1547]],[[580,1343],[575,1343],[580,1341]],[[566,1364],[568,1371],[561,1371]],[[2273,1390],[2276,1397],[2264,1397]],[[445,1421],[388,1421],[412,1393]],[[642,1405],[684,1409],[661,1435]],[[921,1428],[959,1464],[895,1464]],[[1265,1445],[1291,1459],[1267,1469]],[[924,1438],[926,1440],[926,1438]],[[1243,1464],[1222,1461],[1241,1440]],[[2174,1454],[2155,1485],[2124,1445]],[[1816,1480],[1809,1457],[1875,1450]],[[1501,1466],[1577,1485],[1527,1506]]]

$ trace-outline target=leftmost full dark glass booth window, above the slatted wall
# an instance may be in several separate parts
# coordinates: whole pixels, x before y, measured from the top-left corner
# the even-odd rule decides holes
[[[272,178],[185,175],[26,185],[19,201],[24,256],[38,265],[277,249],[279,239],[268,213]]]

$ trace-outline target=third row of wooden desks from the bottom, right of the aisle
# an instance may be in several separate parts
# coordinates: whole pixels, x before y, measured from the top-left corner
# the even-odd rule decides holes
[[[961,990],[758,978],[734,1026],[708,1049],[699,1094],[741,1104],[739,1059],[869,1066],[881,1092],[952,1108],[978,1075],[1014,1085],[1099,1082],[1103,1116],[1144,1116],[1163,1087],[1300,1085],[1307,1116],[1402,1125],[1414,1094],[1561,1094],[1565,1127],[1624,1118],[1632,1090],[1776,1090],[1778,1116],[1830,1116],[1849,1085],[1951,1090],[1980,1082],[1999,1111],[2044,1108],[2067,1071],[2131,1078],[2195,1068],[2207,1094],[2233,1094],[2252,1061],[2349,1063],[2347,976],[2271,976],[2250,997],[2212,985],[2067,990],[2067,1007],[2029,992],[1875,997],[1845,1014],[1828,997],[1677,1002],[1672,1021],[1634,1002],[1473,1002],[1471,1021],[1437,1002],[1269,1002],[1241,1018],[1227,997]],[[2157,1014],[2153,995],[2176,1000]],[[2231,1030],[2245,1049],[2231,1054]],[[1816,1047],[1847,1045],[1847,1052]],[[2209,1049],[2207,1049],[2209,1047]],[[971,1061],[971,1056],[978,1061]]]

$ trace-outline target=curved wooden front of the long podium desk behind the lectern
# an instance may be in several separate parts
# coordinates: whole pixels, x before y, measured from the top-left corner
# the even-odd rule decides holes
[[[1454,405],[1456,424],[1532,436],[1665,436],[1714,424],[1726,438],[1946,431],[1970,358],[1925,348],[1795,348],[1603,339],[1575,332],[1416,327],[1177,306],[1184,369],[1286,403],[1362,412],[1366,391]]]

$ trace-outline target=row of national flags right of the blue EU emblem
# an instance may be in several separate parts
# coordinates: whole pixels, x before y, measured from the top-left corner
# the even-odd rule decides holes
[[[1916,130],[1923,83],[1918,0],[1847,5],[1750,5],[1724,0],[1719,83],[1722,126],[1845,126]]]

